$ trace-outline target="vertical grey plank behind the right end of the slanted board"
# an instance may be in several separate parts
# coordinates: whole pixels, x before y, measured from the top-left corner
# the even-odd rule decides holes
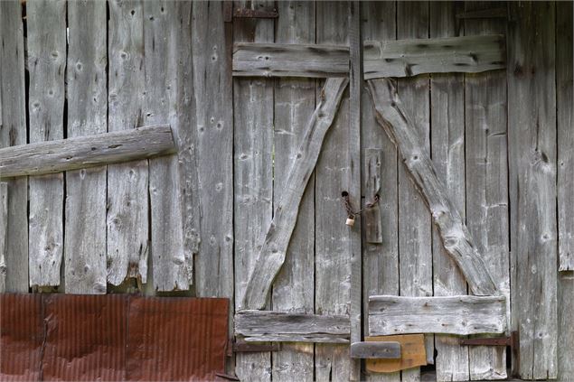
[[[187,290],[193,280],[193,255],[183,247],[183,178],[195,169],[189,162],[194,146],[185,130],[194,124],[193,65],[191,50],[184,48],[191,46],[191,23],[189,2],[144,2],[144,120],[169,123],[179,153],[149,161],[153,266],[147,284],[155,291]]]

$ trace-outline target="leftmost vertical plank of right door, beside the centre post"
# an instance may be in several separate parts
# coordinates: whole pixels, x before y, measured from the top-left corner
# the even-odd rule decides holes
[[[396,39],[396,3],[365,2],[362,4],[363,40]],[[381,244],[362,244],[362,287],[363,312],[368,312],[370,295],[399,294],[399,194],[397,173],[397,149],[388,135],[377,123],[368,92],[362,92],[361,152],[365,158],[367,151],[381,151],[381,190],[379,191],[379,211]],[[362,159],[362,163],[366,163]],[[371,201],[368,194],[368,169],[362,166],[362,197]],[[363,220],[364,222],[364,220]],[[369,320],[363,320],[363,330],[369,332]],[[400,381],[400,372],[366,374],[368,381]]]

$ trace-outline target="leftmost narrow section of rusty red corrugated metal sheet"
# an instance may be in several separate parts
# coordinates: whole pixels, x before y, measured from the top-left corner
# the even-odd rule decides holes
[[[0,294],[0,380],[40,380],[42,296]]]

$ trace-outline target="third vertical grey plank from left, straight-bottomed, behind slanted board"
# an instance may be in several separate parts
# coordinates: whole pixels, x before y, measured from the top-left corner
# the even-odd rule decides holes
[[[69,137],[108,130],[107,22],[105,3],[68,4]],[[106,193],[106,166],[66,172],[66,293],[107,291]]]

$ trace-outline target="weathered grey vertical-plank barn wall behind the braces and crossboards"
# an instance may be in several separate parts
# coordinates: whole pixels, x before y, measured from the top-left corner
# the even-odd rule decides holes
[[[225,6],[0,2],[0,147],[170,124],[179,153],[3,179],[6,292],[140,291],[228,297],[231,313],[241,307],[324,80],[233,79],[232,42],[347,45],[353,18],[345,2],[237,2],[275,8],[278,18],[225,23]],[[496,12],[472,16],[489,9]],[[364,40],[506,35],[506,70],[425,74],[397,87],[510,299],[521,377],[574,376],[572,3],[364,2],[360,22]],[[354,141],[352,97],[345,93],[326,135],[268,309],[349,314],[360,303],[358,284],[363,312],[373,294],[467,293],[366,90]],[[344,225],[341,192],[362,190],[362,205],[372,201],[372,154],[381,158],[382,242],[363,234],[360,245],[361,222]],[[362,275],[350,256],[357,246]],[[439,380],[506,376],[503,348],[461,347],[446,335],[426,343],[431,356],[437,352],[429,361]],[[241,354],[228,368],[247,380],[359,377],[348,347],[332,344]]]

